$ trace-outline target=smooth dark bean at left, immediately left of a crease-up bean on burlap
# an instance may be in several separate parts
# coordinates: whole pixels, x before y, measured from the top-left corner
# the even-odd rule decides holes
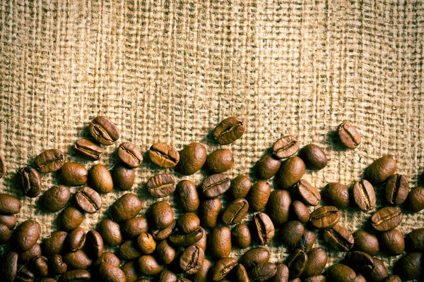
[[[47,212],[58,212],[68,204],[71,191],[64,185],[49,188],[40,198],[40,206]]]

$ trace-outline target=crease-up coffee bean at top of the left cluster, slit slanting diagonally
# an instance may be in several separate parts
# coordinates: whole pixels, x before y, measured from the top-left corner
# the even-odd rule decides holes
[[[119,139],[119,129],[106,116],[96,116],[89,128],[91,136],[102,145],[112,145]]]

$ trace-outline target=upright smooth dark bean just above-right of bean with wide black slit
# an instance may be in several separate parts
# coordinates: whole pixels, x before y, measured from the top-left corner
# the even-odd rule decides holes
[[[291,197],[286,190],[273,190],[266,204],[266,212],[274,225],[279,226],[288,221]],[[309,212],[308,212],[309,216]]]

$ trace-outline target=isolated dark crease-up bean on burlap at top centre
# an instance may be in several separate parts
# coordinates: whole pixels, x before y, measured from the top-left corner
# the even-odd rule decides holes
[[[237,116],[231,116],[218,123],[212,135],[220,145],[228,145],[242,137],[245,130],[245,121]]]

